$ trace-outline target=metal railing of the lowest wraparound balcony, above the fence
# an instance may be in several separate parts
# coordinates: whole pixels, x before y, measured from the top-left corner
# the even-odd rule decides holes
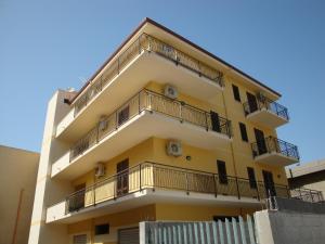
[[[66,197],[66,214],[145,189],[256,200],[263,200],[269,195],[290,196],[288,188],[282,184],[269,188],[263,182],[248,179],[145,162],[70,194]]]

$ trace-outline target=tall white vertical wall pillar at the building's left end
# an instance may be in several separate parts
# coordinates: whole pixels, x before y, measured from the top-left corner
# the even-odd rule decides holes
[[[55,140],[56,125],[69,111],[69,105],[63,102],[67,94],[56,91],[48,104],[28,244],[68,244],[65,224],[46,224],[47,207],[70,190],[67,182],[51,179],[53,158],[67,149]]]

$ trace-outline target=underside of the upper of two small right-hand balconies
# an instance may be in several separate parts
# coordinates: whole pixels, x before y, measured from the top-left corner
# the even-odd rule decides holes
[[[265,125],[269,128],[275,129],[288,123],[287,119],[276,115],[272,111],[262,108],[247,115],[247,119],[260,125]]]

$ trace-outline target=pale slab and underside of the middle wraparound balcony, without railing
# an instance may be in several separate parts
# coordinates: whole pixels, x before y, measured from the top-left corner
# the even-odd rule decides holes
[[[151,137],[177,139],[207,150],[214,150],[232,140],[204,127],[143,111],[70,163],[68,156],[60,158],[52,165],[52,177],[75,179],[92,170],[96,163],[106,162]]]

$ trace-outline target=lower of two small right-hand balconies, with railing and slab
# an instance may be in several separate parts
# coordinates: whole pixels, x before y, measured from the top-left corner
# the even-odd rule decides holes
[[[251,144],[256,162],[269,165],[287,166],[299,162],[297,145],[274,137],[264,138]]]

